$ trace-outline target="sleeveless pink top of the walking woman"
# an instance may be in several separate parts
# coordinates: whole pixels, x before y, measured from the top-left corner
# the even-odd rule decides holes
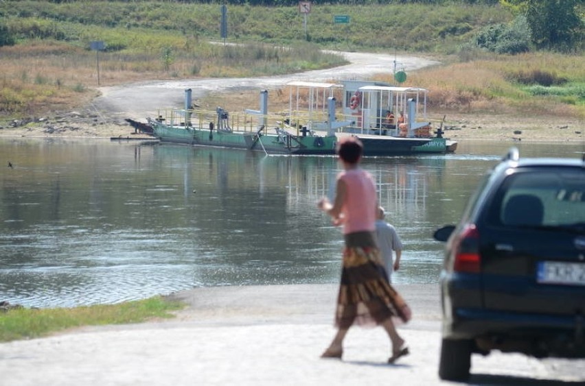
[[[347,187],[341,208],[343,233],[376,230],[376,186],[371,174],[357,168],[342,171],[337,178]]]

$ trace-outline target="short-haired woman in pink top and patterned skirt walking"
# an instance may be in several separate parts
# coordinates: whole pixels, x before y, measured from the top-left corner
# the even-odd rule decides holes
[[[393,319],[408,322],[411,309],[388,282],[382,265],[376,241],[376,185],[371,174],[359,166],[363,144],[354,136],[346,137],[337,143],[336,153],[344,170],[337,176],[334,202],[323,197],[317,206],[332,217],[334,225],[343,226],[345,248],[335,313],[338,330],[321,357],[341,359],[350,326],[381,325],[392,345],[388,362],[394,363],[409,354],[409,348]]]

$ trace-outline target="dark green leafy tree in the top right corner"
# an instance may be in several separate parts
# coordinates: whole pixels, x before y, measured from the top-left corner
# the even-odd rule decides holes
[[[584,23],[577,6],[581,0],[500,0],[501,5],[524,14],[536,47],[569,51],[581,49]]]

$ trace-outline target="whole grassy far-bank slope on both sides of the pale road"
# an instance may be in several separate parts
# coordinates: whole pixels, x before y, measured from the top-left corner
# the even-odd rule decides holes
[[[512,19],[496,6],[322,5],[312,9],[306,31],[296,7],[230,6],[227,43],[244,46],[218,39],[218,5],[3,1],[0,12],[16,36],[16,45],[0,47],[5,118],[78,108],[97,95],[98,85],[278,75],[343,64],[322,48],[438,58],[443,65],[409,73],[406,82],[431,89],[431,108],[585,117],[582,56],[458,51],[479,29]],[[347,14],[350,23],[333,23],[336,14]],[[91,51],[95,40],[106,49]]]

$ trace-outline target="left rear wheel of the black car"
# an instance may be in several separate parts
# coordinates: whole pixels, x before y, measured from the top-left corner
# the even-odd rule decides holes
[[[469,339],[443,339],[439,377],[447,381],[466,381],[471,367],[471,341]]]

